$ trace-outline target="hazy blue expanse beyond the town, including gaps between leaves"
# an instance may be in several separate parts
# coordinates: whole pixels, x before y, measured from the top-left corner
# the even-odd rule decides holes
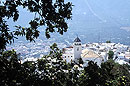
[[[63,36],[52,34],[56,42],[72,43],[78,35],[83,43],[88,42],[120,42],[130,45],[130,0],[66,0],[72,1],[73,15],[72,20],[68,21],[68,32]],[[33,14],[20,10],[20,19],[17,24],[28,26],[28,21]],[[15,24],[12,23],[10,27]],[[44,32],[44,28],[41,28]],[[41,34],[41,39],[44,34]],[[58,37],[57,37],[58,36]],[[50,39],[50,40],[51,40]]]

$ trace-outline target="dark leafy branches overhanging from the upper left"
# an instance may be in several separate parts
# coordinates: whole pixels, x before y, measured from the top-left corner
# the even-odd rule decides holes
[[[34,19],[30,20],[29,27],[15,26],[11,32],[6,19],[19,18],[18,7],[22,6],[30,13],[35,13]],[[71,19],[72,3],[64,0],[2,0],[0,1],[0,50],[7,44],[14,42],[17,36],[25,36],[27,40],[34,41],[40,31],[39,27],[45,26],[45,34],[50,38],[50,32],[63,34],[68,29],[66,21]],[[56,29],[57,28],[57,29]]]

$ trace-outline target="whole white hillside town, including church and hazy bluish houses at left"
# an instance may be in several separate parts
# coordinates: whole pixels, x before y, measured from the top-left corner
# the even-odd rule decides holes
[[[36,61],[37,59],[46,55],[50,48],[52,41],[44,43],[42,40],[37,40],[36,43],[23,43],[22,41],[15,44],[12,48],[9,46],[7,49],[15,49],[20,53],[21,60],[24,61]],[[130,47],[120,43],[86,43],[82,44],[79,37],[75,38],[71,46],[67,46],[64,43],[57,43],[58,48],[62,49],[62,58],[66,62],[76,61],[80,57],[84,61],[84,66],[88,61],[97,62],[100,65],[102,62],[108,60],[109,51],[114,52],[115,62],[119,64],[130,63]],[[26,57],[26,58],[25,58]]]

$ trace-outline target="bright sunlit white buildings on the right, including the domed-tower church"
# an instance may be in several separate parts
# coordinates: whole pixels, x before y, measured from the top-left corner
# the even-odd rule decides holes
[[[79,37],[74,40],[72,46],[63,48],[62,58],[66,62],[78,61],[82,58],[86,66],[88,61],[97,62],[100,65],[102,62],[108,60],[108,52],[114,53],[113,60],[119,64],[130,63],[130,47],[123,44],[116,43],[88,43],[82,44]]]

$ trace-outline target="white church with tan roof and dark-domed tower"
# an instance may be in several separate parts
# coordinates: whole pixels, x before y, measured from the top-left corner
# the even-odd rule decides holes
[[[87,65],[88,61],[94,61],[100,65],[103,61],[99,54],[87,48],[87,46],[82,46],[79,37],[76,37],[72,46],[63,48],[62,57],[66,62],[77,61],[79,58],[82,58],[84,65]]]

